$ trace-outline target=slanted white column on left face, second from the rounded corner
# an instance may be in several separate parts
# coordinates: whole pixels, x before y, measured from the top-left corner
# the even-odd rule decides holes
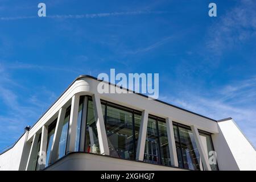
[[[55,132],[52,140],[51,152],[49,154],[49,164],[53,164],[58,159],[59,143],[60,143],[61,131],[62,131],[64,119],[65,119],[66,110],[67,109],[65,107],[61,107],[59,110]]]

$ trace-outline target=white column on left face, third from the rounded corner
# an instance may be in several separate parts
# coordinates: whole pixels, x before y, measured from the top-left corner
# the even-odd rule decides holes
[[[44,125],[42,127],[42,135],[41,135],[41,142],[40,142],[40,150],[39,150],[39,158],[40,164],[39,169],[42,170],[46,167],[46,150],[47,150],[47,141],[48,140],[48,126]]]

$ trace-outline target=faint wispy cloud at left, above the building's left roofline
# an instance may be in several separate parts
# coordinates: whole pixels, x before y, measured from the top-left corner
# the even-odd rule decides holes
[[[0,144],[5,147],[14,143],[23,133],[24,127],[35,122],[50,101],[56,99],[55,93],[42,86],[22,97],[20,92],[26,92],[27,89],[16,83],[9,72],[10,68],[0,64]],[[1,147],[0,151],[5,147]]]

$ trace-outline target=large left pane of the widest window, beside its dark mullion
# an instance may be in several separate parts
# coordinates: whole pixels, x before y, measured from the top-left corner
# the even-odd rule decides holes
[[[111,156],[134,159],[133,113],[107,106],[106,134]]]

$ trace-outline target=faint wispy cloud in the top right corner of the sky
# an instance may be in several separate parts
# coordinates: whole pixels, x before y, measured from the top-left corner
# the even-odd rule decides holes
[[[256,1],[241,1],[236,7],[220,15],[208,32],[207,48],[221,55],[251,38],[256,37]]]

